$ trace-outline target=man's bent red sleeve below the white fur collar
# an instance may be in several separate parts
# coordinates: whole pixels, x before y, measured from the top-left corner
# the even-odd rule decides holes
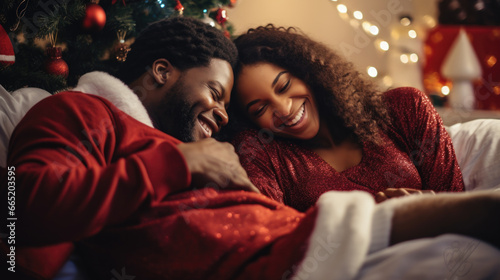
[[[61,93],[19,123],[8,157],[16,172],[19,244],[88,237],[189,186],[179,141],[148,137],[144,125],[118,112],[99,97]]]

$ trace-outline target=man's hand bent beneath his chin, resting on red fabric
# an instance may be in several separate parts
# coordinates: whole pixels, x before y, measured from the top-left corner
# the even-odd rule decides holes
[[[260,193],[248,178],[231,144],[207,138],[177,147],[184,155],[191,172],[192,187],[240,189]]]

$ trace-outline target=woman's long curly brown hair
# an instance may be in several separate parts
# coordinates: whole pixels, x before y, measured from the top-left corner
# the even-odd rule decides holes
[[[336,144],[347,138],[359,143],[380,143],[377,132],[389,122],[383,93],[356,71],[352,63],[294,28],[272,24],[250,29],[234,43],[239,54],[236,82],[246,65],[275,64],[309,86],[320,117],[328,123]],[[238,111],[241,110],[231,110],[231,117],[241,125],[242,115],[234,114]]]

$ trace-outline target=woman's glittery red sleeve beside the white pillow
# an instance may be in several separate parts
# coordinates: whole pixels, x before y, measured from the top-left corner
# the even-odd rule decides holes
[[[415,88],[398,88],[385,97],[392,121],[390,130],[417,167],[422,189],[464,191],[451,138],[425,93]]]

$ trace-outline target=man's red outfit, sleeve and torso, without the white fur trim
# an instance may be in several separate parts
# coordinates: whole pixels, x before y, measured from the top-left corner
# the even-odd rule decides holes
[[[317,209],[304,214],[243,191],[181,192],[190,173],[178,143],[100,97],[65,92],[35,105],[8,158],[16,166],[18,258],[50,278],[66,245],[43,254],[33,246],[74,241],[92,279],[291,275]],[[50,253],[60,257],[49,262]]]

